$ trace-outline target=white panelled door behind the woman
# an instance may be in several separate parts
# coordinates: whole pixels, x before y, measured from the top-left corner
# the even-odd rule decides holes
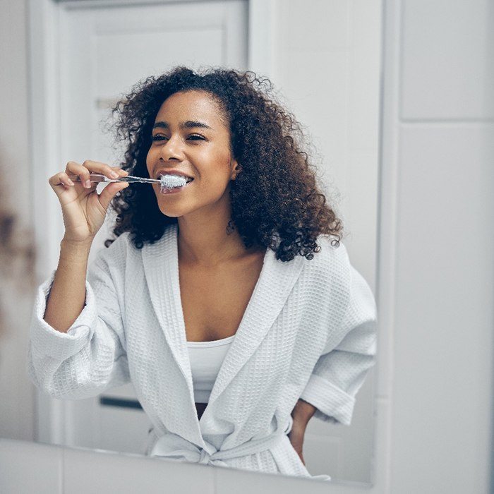
[[[100,122],[138,80],[176,65],[247,68],[247,0],[111,7],[71,2],[59,14],[62,163],[119,163]],[[102,229],[95,249],[107,237]],[[131,385],[68,402],[66,444],[143,452],[149,423],[136,406]]]

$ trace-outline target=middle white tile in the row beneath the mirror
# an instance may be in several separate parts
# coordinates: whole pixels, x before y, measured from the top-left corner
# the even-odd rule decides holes
[[[64,451],[64,494],[214,493],[212,467],[90,450]]]

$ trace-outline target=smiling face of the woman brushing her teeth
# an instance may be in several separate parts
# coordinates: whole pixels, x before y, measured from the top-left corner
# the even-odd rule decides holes
[[[151,178],[182,175],[186,186],[162,193],[154,186],[159,210],[170,217],[230,212],[229,183],[237,163],[231,156],[224,111],[209,92],[176,92],[164,101],[147,152]]]

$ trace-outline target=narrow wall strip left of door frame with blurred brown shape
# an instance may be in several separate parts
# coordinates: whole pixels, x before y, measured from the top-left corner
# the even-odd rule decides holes
[[[34,438],[25,372],[34,279],[24,1],[0,2],[0,437]],[[8,227],[8,224],[11,227]]]

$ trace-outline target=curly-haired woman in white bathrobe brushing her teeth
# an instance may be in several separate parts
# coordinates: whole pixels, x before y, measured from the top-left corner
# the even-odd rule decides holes
[[[309,475],[308,420],[349,423],[373,365],[375,306],[298,124],[267,80],[223,70],[149,78],[115,112],[121,169],[69,162],[49,179],[65,234],[37,299],[33,380],[71,399],[131,380],[150,454]],[[89,181],[129,171],[187,183],[97,195]],[[112,201],[116,240],[86,282]]]

